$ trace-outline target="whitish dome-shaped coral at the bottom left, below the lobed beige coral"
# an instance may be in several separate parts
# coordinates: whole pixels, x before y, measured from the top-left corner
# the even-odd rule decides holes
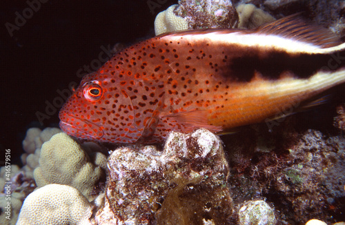
[[[77,225],[90,215],[90,203],[79,190],[49,184],[34,190],[24,201],[17,225]]]

